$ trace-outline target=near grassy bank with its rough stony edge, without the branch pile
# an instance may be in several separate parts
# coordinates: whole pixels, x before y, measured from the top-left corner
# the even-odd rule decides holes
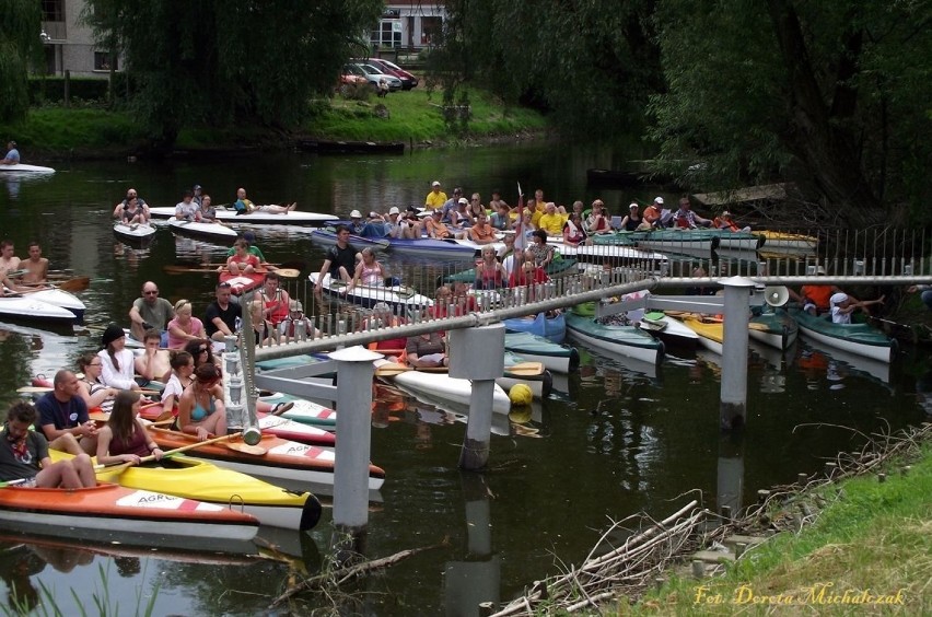
[[[825,481],[808,479],[797,491],[762,491],[767,502],[749,509],[753,519],[738,525],[739,533],[760,544],[733,561],[723,555],[715,574],[701,581],[679,563],[667,570],[668,581],[659,589],[621,598],[617,614],[732,615],[777,608],[849,615],[864,608],[929,615],[932,596],[922,590],[932,579],[917,580],[921,569],[900,571],[889,561],[905,563],[922,555],[929,561],[932,540],[923,543],[922,536],[932,532],[932,424],[925,422],[899,443],[902,452],[878,465],[864,463],[882,455],[887,444],[874,452],[840,453],[827,464]],[[773,492],[781,498],[771,500]],[[900,533],[887,533],[892,528]],[[875,550],[876,559],[854,555],[863,547]]]

